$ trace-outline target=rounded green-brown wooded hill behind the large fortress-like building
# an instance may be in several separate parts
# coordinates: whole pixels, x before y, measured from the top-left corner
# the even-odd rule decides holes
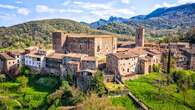
[[[23,48],[30,45],[49,44],[51,33],[54,31],[105,34],[105,32],[67,19],[31,21],[10,27],[1,27],[0,48]]]

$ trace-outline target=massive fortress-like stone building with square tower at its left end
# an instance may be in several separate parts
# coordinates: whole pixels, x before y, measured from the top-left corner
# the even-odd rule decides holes
[[[89,56],[115,53],[117,38],[113,35],[87,35],[54,32],[53,49],[60,53],[81,53]]]

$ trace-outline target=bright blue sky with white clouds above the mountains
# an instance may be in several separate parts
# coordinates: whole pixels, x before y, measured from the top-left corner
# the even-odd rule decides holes
[[[159,7],[192,2],[195,0],[0,0],[0,26],[51,18],[90,23],[110,16],[130,18]]]

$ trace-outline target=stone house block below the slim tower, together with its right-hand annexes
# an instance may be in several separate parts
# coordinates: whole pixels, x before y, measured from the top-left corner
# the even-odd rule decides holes
[[[160,60],[161,54],[157,50],[133,48],[107,55],[107,72],[115,74],[119,80],[127,80],[136,74],[152,72]]]

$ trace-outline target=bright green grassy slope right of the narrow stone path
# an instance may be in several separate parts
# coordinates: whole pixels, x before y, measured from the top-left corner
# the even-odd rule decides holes
[[[188,90],[186,101],[181,92],[177,92],[176,84],[161,87],[159,92],[156,81],[163,77],[159,73],[151,73],[136,80],[126,82],[129,90],[153,110],[193,110],[195,109],[195,90]]]

